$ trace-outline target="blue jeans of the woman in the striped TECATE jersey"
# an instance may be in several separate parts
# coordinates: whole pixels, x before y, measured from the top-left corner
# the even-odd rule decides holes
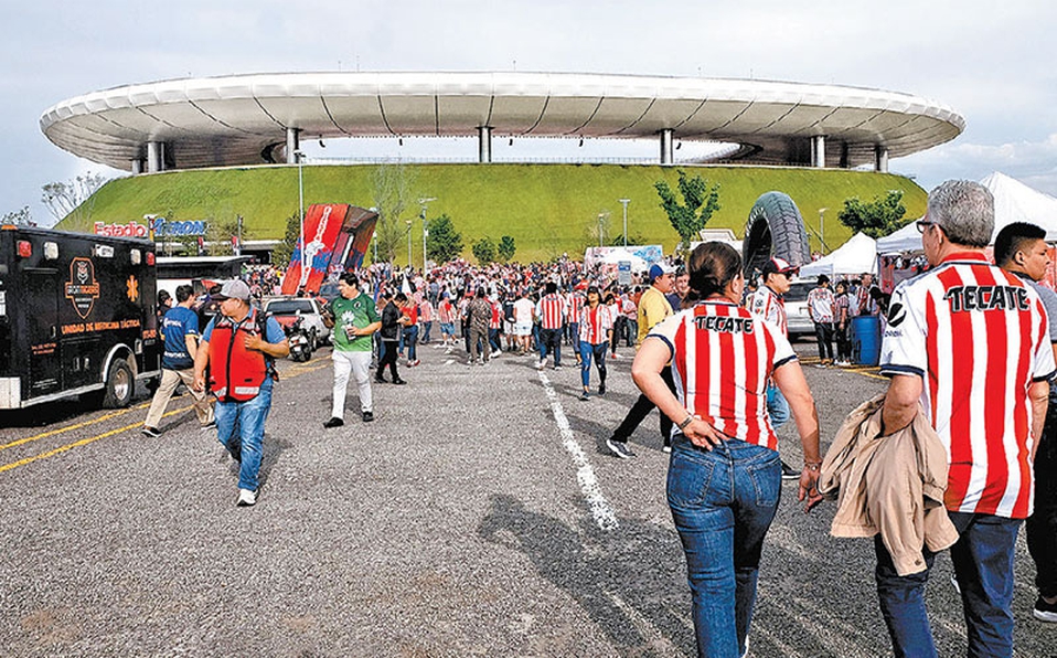
[[[775,450],[728,439],[709,452],[676,435],[668,505],[686,554],[700,656],[745,652],[764,535],[780,497]]]

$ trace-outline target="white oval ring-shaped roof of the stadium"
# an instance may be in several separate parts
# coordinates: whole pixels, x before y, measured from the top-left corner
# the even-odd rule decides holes
[[[170,166],[263,163],[302,138],[380,136],[656,139],[735,142],[733,158],[808,163],[824,137],[825,164],[900,157],[957,137],[946,105],[837,85],[570,73],[280,73],[183,78],[63,100],[41,117],[60,148],[134,169],[148,142]],[[276,150],[277,149],[277,150]],[[275,158],[281,160],[281,158]]]

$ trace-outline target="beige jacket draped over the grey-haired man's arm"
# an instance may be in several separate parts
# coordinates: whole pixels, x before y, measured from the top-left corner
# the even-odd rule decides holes
[[[922,548],[939,552],[958,541],[943,507],[947,452],[918,407],[914,422],[880,434],[884,395],[855,408],[822,461],[819,491],[837,495],[833,537],[880,533],[899,575],[925,571]]]

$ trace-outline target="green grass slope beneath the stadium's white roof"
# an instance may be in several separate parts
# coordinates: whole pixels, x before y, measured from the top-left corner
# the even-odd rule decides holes
[[[373,180],[376,164],[306,164],[305,204],[351,203],[374,205]],[[730,229],[741,237],[745,221],[756,199],[768,191],[789,194],[800,208],[808,226],[811,248],[820,248],[820,209],[824,212],[821,233],[826,253],[851,235],[836,215],[844,200],[864,201],[903,190],[907,217],[923,214],[925,190],[914,181],[866,171],[781,167],[682,167],[719,183],[722,209],[709,229]],[[450,216],[462,234],[463,255],[471,258],[470,245],[481,237],[495,242],[503,235],[514,238],[515,261],[548,259],[567,252],[580,256],[598,244],[598,215],[608,213],[604,231],[607,244],[622,232],[622,208],[618,199],[631,199],[628,234],[645,244],[662,244],[665,252],[679,235],[659,206],[653,189],[666,180],[674,189],[676,167],[642,164],[405,164],[410,181],[410,203],[401,219],[415,219],[412,230],[413,261],[421,259],[421,224],[417,221],[421,197],[429,203],[429,217]],[[114,180],[104,185],[81,209],[60,223],[70,231],[90,231],[93,222],[142,221],[145,214],[160,214],[172,221],[206,220],[218,224],[244,222],[244,238],[280,238],[286,217],[298,209],[296,166],[197,169],[169,171]],[[397,263],[406,250],[397,250]]]

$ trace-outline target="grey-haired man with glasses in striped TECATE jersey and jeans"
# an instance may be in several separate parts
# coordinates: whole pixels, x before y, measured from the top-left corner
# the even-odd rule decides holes
[[[1013,554],[1032,512],[1032,453],[1046,416],[1054,352],[1031,287],[987,263],[994,200],[948,181],[918,221],[930,272],[895,291],[880,371],[891,376],[884,433],[906,427],[920,402],[947,449],[944,502],[959,531],[951,561],[969,625],[970,656],[1013,655]],[[879,538],[877,593],[896,656],[936,656],[925,571],[896,573]]]

